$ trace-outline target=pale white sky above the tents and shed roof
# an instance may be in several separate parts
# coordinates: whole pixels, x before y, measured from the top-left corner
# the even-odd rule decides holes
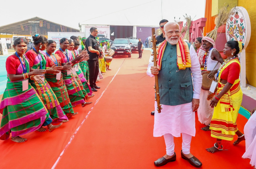
[[[161,0],[1,0],[0,26],[38,16],[40,18],[79,29],[79,23],[91,20],[111,20],[118,25],[116,15],[124,15],[131,23],[158,26],[162,19]],[[204,17],[205,0],[162,0],[163,18],[184,21],[185,14],[194,20]],[[95,21],[98,20],[98,21]]]

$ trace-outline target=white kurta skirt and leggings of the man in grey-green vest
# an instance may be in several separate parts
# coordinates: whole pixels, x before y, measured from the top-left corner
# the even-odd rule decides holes
[[[164,135],[166,144],[166,154],[174,155],[174,138],[180,137],[182,133],[182,152],[190,153],[190,143],[192,136],[196,135],[195,112],[192,112],[192,102],[177,106],[162,104],[161,113],[156,110],[155,102],[155,122],[154,137]]]

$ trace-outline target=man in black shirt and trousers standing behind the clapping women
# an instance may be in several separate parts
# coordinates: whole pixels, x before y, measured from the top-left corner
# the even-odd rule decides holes
[[[96,85],[98,73],[99,73],[99,56],[100,51],[95,36],[98,34],[97,28],[92,27],[90,29],[90,36],[85,41],[85,46],[89,54],[89,82],[92,91],[97,92],[100,87]]]

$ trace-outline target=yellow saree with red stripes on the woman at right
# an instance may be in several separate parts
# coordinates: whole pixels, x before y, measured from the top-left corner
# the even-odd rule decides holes
[[[231,63],[238,63],[240,65],[237,58],[230,60],[222,70],[220,70],[219,77],[221,77],[222,71]],[[219,79],[217,94],[222,91],[224,86],[225,84],[220,83]],[[217,106],[214,107],[212,121],[210,123],[211,136],[213,138],[228,141],[233,140],[235,133],[238,131],[236,118],[242,103],[242,96],[243,93],[240,88],[240,80],[237,79],[230,90],[220,98]]]

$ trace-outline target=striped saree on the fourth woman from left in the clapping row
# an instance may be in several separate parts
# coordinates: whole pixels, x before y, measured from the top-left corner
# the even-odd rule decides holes
[[[72,60],[71,51],[66,50],[66,52],[68,53],[69,59]],[[62,55],[64,62],[68,63],[66,56],[61,51],[56,51],[56,54]],[[72,106],[75,106],[78,104],[84,104],[84,102],[86,100],[85,98],[88,95],[86,95],[86,96],[84,95],[84,93],[86,93],[86,91],[80,87],[78,81],[76,80],[75,75],[71,72],[68,75],[68,71],[66,71],[66,70],[61,71],[61,72],[63,75],[63,80],[65,82],[66,88],[68,90],[68,97],[70,99]],[[84,91],[82,91],[82,90],[84,90]]]

